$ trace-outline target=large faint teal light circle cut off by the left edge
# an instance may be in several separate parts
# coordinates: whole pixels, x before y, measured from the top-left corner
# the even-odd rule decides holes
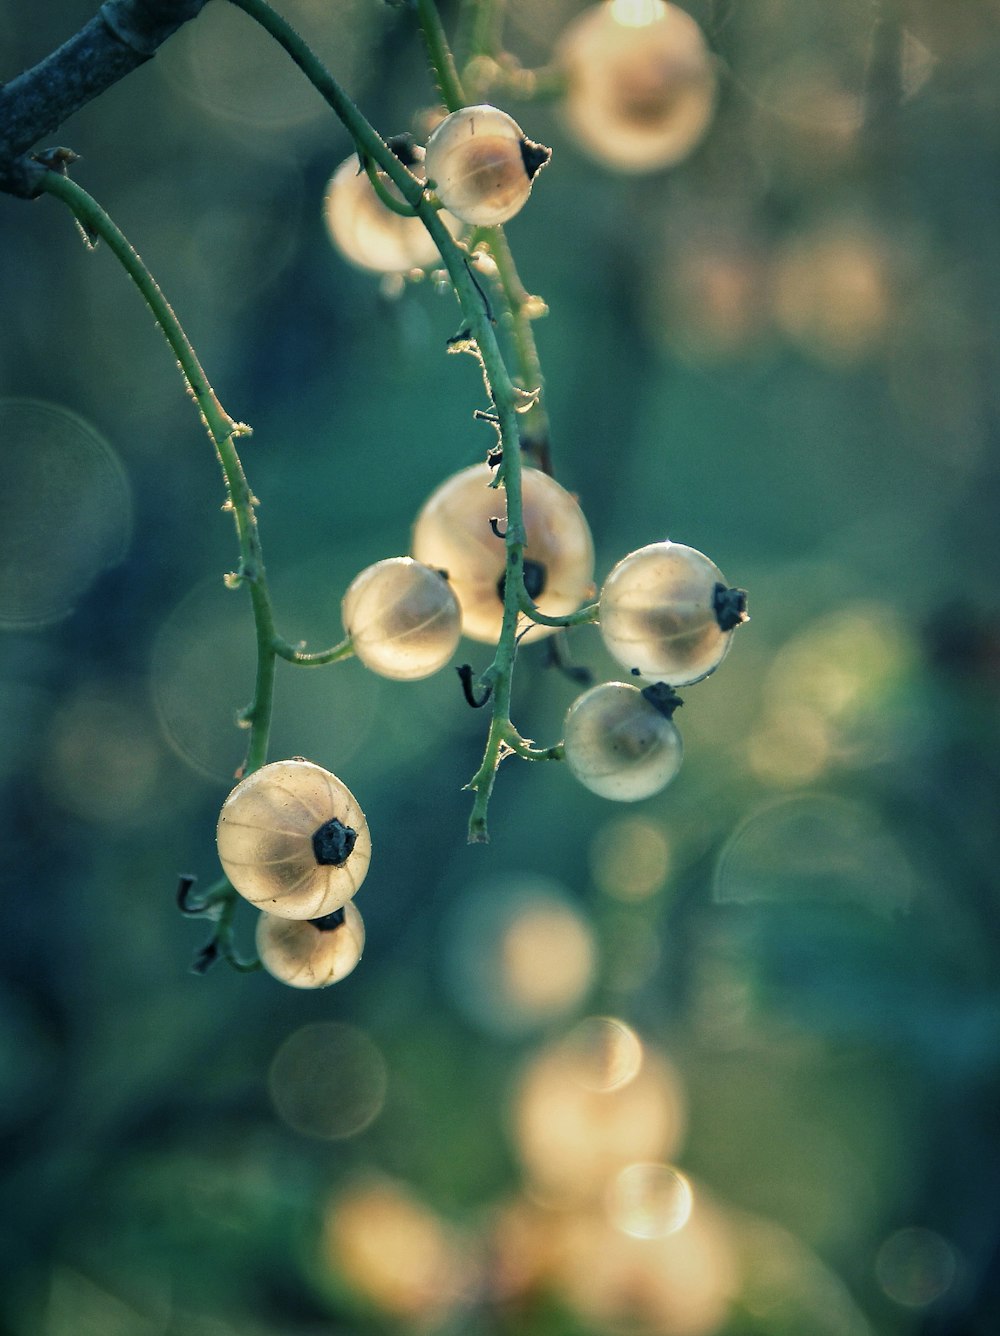
[[[72,612],[132,532],[117,456],[83,418],[37,399],[0,399],[0,627]]]

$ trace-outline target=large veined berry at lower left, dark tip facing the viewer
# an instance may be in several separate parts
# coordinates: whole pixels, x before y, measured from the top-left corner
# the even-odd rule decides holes
[[[288,919],[339,910],[371,859],[368,823],[354,794],[300,758],[240,780],[223,803],[216,840],[239,894]]]

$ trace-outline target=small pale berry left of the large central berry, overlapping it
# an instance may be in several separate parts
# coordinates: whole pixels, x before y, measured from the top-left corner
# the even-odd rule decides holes
[[[355,576],[340,616],[364,667],[397,681],[438,672],[462,637],[447,578],[413,557],[387,557]]]

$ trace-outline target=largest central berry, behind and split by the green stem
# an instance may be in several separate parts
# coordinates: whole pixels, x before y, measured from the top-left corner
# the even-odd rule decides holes
[[[474,464],[431,493],[417,517],[413,553],[447,570],[462,608],[462,631],[495,644],[503,621],[506,498],[491,488],[493,470]],[[594,545],[575,500],[538,469],[521,473],[525,521],[525,588],[539,612],[559,617],[593,595]],[[490,520],[494,524],[490,524]],[[533,625],[531,639],[551,635]]]

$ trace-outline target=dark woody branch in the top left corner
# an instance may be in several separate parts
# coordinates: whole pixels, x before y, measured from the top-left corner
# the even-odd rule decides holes
[[[80,31],[0,87],[0,191],[32,199],[45,167],[28,150],[154,56],[207,0],[105,0]]]

